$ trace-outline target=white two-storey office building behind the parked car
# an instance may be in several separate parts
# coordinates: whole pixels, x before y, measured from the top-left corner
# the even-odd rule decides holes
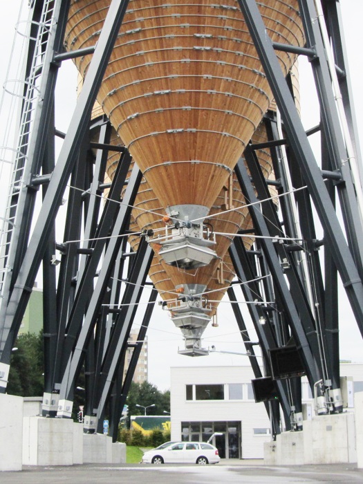
[[[363,364],[341,364],[341,375],[353,378],[356,391],[363,389]],[[265,404],[254,401],[252,379],[250,366],[171,368],[171,440],[206,441],[219,432],[212,443],[221,458],[263,458],[270,420]],[[349,388],[353,397],[353,383]],[[306,377],[302,391],[311,416],[314,402]]]

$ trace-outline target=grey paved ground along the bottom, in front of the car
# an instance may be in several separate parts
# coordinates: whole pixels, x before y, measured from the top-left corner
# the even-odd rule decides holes
[[[217,465],[75,465],[24,467],[22,472],[0,472],[0,483],[363,483],[356,465],[265,466],[259,460],[223,460]]]

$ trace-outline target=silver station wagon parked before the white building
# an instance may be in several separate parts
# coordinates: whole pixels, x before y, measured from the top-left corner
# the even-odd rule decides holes
[[[148,450],[142,456],[144,464],[216,464],[218,449],[204,442],[177,442],[164,449]]]

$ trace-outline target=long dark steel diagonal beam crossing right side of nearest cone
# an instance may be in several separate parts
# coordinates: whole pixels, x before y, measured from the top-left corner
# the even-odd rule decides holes
[[[355,265],[355,259],[346,243],[344,233],[335,214],[335,209],[324,185],[321,171],[317,166],[286,80],[274,54],[272,43],[268,35],[266,35],[266,27],[263,24],[256,2],[254,0],[239,0],[239,6],[259,53],[272,93],[281,111],[281,118],[283,119],[290,147],[295,153],[304,180],[315,203],[317,214],[326,232],[326,242],[331,247],[339,274],[351,301],[355,319],[363,335],[363,286]],[[310,20],[311,15],[309,17]],[[323,64],[324,60],[320,65]],[[354,205],[356,206],[356,203]]]

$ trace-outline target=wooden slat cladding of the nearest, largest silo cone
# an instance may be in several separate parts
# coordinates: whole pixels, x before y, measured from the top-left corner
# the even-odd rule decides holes
[[[108,6],[71,2],[68,49],[95,44]],[[296,0],[259,8],[272,40],[304,45]],[[131,0],[97,100],[162,207],[212,207],[272,95],[236,1]]]

